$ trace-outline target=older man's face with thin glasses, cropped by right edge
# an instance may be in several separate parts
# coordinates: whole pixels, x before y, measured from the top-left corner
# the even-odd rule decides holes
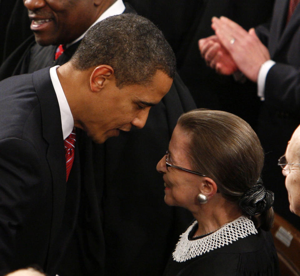
[[[291,141],[287,145],[285,157],[288,164],[300,164],[300,126],[292,135]],[[287,165],[287,170],[282,170],[285,176],[285,187],[288,192],[288,201],[291,212],[300,216],[300,166]]]

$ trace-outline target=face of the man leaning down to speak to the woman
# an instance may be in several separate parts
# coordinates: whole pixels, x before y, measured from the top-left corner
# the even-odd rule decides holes
[[[159,70],[148,85],[133,84],[119,89],[113,82],[105,91],[93,92],[88,110],[78,122],[75,119],[75,126],[85,130],[96,143],[118,136],[120,130],[129,131],[132,125],[142,128],[151,106],[167,94],[172,82]]]

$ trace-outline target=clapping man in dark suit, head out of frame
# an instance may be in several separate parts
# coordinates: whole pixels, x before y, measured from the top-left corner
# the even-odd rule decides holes
[[[213,18],[217,36],[201,40],[200,49],[217,72],[239,70],[257,83],[257,95],[263,100],[257,129],[266,152],[263,179],[275,192],[275,212],[300,229],[298,218],[287,211],[282,176],[275,169],[300,120],[299,21],[300,6],[294,1],[276,1],[270,25],[249,32],[228,18]]]

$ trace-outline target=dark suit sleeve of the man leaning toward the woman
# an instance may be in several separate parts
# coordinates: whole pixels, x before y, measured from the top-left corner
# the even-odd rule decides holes
[[[30,245],[35,241],[23,239],[23,222],[32,216],[35,198],[40,196],[39,163],[28,142],[17,138],[0,141],[0,275],[31,264]]]

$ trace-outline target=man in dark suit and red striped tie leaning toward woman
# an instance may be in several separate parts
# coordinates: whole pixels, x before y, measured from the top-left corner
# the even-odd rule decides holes
[[[85,177],[78,143],[68,175],[64,140],[74,127],[97,143],[143,128],[175,70],[158,28],[127,14],[92,27],[61,67],[0,82],[1,275],[32,264],[57,273],[80,217]]]

